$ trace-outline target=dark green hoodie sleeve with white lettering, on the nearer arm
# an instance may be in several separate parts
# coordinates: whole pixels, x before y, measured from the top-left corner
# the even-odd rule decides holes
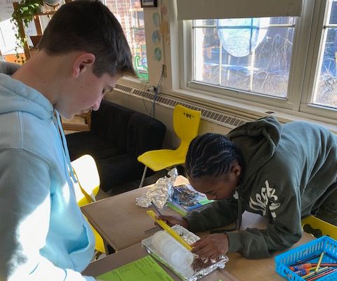
[[[267,228],[248,228],[238,233],[227,233],[229,251],[239,252],[251,259],[267,258],[277,250],[291,247],[302,236],[301,203],[296,187],[290,181],[281,188],[271,182],[268,186],[260,186],[260,193],[251,193],[250,207],[251,211],[260,214],[262,212],[263,217],[269,220]],[[261,198],[260,205],[253,205],[254,198]]]

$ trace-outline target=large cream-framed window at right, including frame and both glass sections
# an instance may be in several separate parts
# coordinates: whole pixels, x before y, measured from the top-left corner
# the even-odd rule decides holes
[[[298,18],[187,20],[183,34],[183,88],[337,121],[337,0],[304,0]]]

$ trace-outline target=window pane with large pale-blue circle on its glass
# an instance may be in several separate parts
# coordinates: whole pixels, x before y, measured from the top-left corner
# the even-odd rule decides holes
[[[294,18],[216,20],[194,25],[194,80],[286,97]]]

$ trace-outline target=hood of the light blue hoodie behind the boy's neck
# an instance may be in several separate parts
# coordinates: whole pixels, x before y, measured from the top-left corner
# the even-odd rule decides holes
[[[25,111],[41,119],[53,116],[53,105],[40,92],[11,78],[19,64],[0,62],[0,114]]]

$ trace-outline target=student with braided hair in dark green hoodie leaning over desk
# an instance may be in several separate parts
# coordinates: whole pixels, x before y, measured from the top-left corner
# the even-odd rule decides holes
[[[193,252],[215,258],[239,252],[266,258],[295,244],[301,219],[309,214],[337,224],[337,136],[304,122],[281,125],[261,118],[227,137],[196,137],[186,157],[190,184],[215,200],[186,217],[161,216],[169,224],[206,231],[238,221],[244,210],[268,219],[267,229],[216,233],[194,244]]]

